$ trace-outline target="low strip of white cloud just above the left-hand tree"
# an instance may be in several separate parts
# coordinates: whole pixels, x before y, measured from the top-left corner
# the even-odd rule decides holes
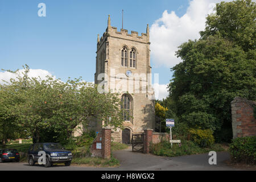
[[[23,76],[22,73],[24,73],[24,69],[20,69],[16,74],[7,71],[0,72],[0,84],[5,83],[3,80],[9,82],[11,78],[15,79],[18,75]],[[40,77],[42,80],[46,80],[46,76],[53,75],[44,69],[30,69],[30,72],[28,72],[28,77]],[[53,78],[56,79],[55,76]]]

